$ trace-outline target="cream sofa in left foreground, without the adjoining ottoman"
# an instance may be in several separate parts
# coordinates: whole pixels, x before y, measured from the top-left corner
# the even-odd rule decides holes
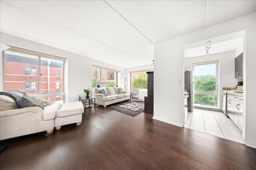
[[[52,104],[44,100],[48,106],[20,108],[12,98],[0,95],[0,140],[19,137],[46,131],[52,134],[54,119],[61,104]]]

